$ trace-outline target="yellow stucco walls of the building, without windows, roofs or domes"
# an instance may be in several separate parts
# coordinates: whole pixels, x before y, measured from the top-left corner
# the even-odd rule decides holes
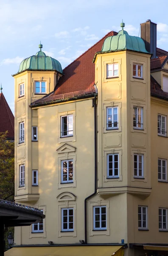
[[[150,54],[120,51],[95,58],[97,127],[97,190],[87,200],[87,242],[167,243],[158,229],[158,209],[168,208],[167,182],[157,177],[158,158],[167,159],[167,137],[158,136],[157,115],[167,116],[167,102],[151,97]],[[118,76],[107,78],[107,65],[118,63]],[[141,79],[133,77],[133,64],[143,66]],[[162,74],[160,74],[162,76]],[[59,75],[61,76],[61,75]],[[157,76],[157,75],[156,75]],[[43,232],[32,226],[16,227],[16,245],[76,244],[84,240],[84,200],[94,192],[94,97],[29,107],[44,95],[35,92],[35,81],[46,81],[46,93],[54,90],[55,71],[25,71],[15,80],[15,201],[43,210]],[[157,80],[157,77],[155,78]],[[160,78],[158,78],[160,79]],[[159,82],[159,81],[158,81]],[[20,84],[24,96],[19,96]],[[118,129],[107,129],[107,109],[118,107]],[[134,108],[143,109],[143,128],[135,129]],[[73,136],[61,137],[61,117],[73,115]],[[25,138],[20,143],[20,123]],[[167,122],[167,121],[166,121]],[[32,126],[38,140],[32,141]],[[118,155],[118,177],[107,177],[108,155]],[[143,155],[143,177],[134,175],[134,155]],[[62,161],[73,160],[73,183],[62,182]],[[20,186],[20,166],[25,183]],[[38,185],[32,186],[32,170]],[[166,169],[167,172],[167,169]],[[94,230],[94,207],[106,207],[106,229]],[[148,207],[146,229],[138,227],[138,206]],[[73,208],[73,231],[62,231],[62,209]],[[124,255],[140,255],[125,249]]]

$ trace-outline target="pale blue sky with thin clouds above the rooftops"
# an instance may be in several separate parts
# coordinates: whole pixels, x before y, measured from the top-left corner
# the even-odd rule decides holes
[[[11,74],[36,54],[40,40],[42,50],[64,68],[107,32],[118,32],[122,19],[136,36],[140,23],[151,19],[158,24],[157,47],[168,50],[167,12],[167,0],[0,0],[0,82],[12,111]]]

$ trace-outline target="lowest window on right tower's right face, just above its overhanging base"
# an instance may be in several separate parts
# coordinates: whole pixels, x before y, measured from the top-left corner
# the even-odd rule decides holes
[[[134,178],[143,178],[143,154],[134,154]]]

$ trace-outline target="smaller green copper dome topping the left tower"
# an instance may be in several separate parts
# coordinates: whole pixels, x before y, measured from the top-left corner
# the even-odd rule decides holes
[[[62,73],[62,67],[59,61],[49,56],[46,56],[44,52],[42,52],[42,44],[39,44],[40,51],[29,58],[24,59],[20,63],[18,73],[21,73],[25,70],[56,70],[59,73]]]

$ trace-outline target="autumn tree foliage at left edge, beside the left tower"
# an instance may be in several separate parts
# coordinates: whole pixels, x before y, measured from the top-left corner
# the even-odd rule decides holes
[[[14,142],[0,133],[0,199],[14,201]]]

